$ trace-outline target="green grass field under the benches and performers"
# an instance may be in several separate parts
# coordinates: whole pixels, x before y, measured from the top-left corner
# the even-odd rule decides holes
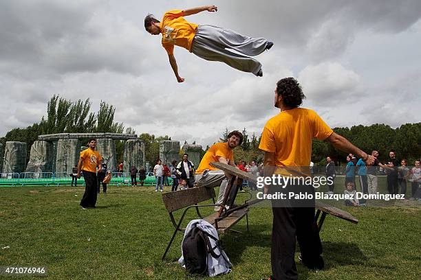
[[[176,262],[181,234],[161,261],[173,227],[153,187],[111,186],[107,196],[98,196],[96,209],[87,210],[79,207],[83,191],[1,187],[0,266],[46,266],[46,279],[196,278]],[[421,279],[420,206],[347,208],[358,224],[327,216],[321,231],[325,270],[297,264],[299,279]],[[244,233],[222,235],[233,272],[219,279],[270,275],[272,212],[253,207],[249,222],[250,233],[241,220],[235,229]]]

